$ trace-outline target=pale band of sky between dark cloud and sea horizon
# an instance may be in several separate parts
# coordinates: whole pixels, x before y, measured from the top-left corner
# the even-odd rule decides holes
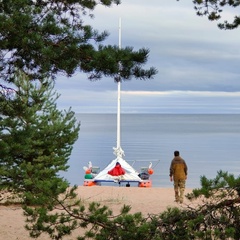
[[[69,96],[65,94],[65,96]],[[76,97],[78,96],[78,97]],[[116,113],[117,90],[81,91],[60,98],[77,113]],[[240,92],[122,91],[122,113],[240,113]]]

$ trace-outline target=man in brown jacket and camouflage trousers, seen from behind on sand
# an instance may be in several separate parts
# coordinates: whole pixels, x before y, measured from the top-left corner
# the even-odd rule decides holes
[[[187,179],[187,164],[180,157],[179,151],[174,152],[174,158],[170,165],[170,181],[174,181],[174,192],[176,202],[183,203],[185,184]]]

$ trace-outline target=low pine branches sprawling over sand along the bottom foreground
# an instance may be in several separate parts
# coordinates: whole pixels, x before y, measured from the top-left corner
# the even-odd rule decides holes
[[[75,186],[61,196],[51,195],[52,204],[26,205],[26,228],[34,238],[45,232],[51,239],[74,232],[79,240],[235,240],[240,238],[238,183],[239,178],[222,171],[212,180],[202,177],[202,188],[187,196],[199,201],[194,207],[148,216],[130,214],[131,207],[125,205],[118,215],[96,202],[87,206],[78,199]],[[85,232],[80,234],[80,228]]]

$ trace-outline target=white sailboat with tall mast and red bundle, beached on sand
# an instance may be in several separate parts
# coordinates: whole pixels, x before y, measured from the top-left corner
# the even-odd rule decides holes
[[[119,19],[119,48],[121,49],[121,18]],[[124,160],[124,151],[121,148],[121,81],[117,81],[118,101],[117,101],[117,146],[113,148],[116,158],[112,160],[107,167],[97,173],[92,179],[84,180],[84,186],[101,185],[102,182],[114,182],[119,185],[126,183],[130,187],[130,183],[138,183],[139,187],[151,187],[151,180],[146,177],[153,173],[152,168],[144,168],[142,172],[137,172],[127,161]],[[90,173],[91,172],[91,173]],[[93,169],[89,167],[88,173],[94,174]],[[142,177],[142,176],[145,176]]]

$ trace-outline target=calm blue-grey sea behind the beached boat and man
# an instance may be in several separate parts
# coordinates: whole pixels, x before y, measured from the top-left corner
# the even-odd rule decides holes
[[[84,166],[91,161],[103,169],[115,159],[116,114],[76,114],[81,122],[69,170],[63,176],[82,185]],[[240,173],[240,115],[121,114],[121,147],[124,159],[140,171],[153,164],[153,187],[172,187],[169,166],[179,150],[189,174],[187,187],[200,186],[200,176],[214,178],[224,170]]]

